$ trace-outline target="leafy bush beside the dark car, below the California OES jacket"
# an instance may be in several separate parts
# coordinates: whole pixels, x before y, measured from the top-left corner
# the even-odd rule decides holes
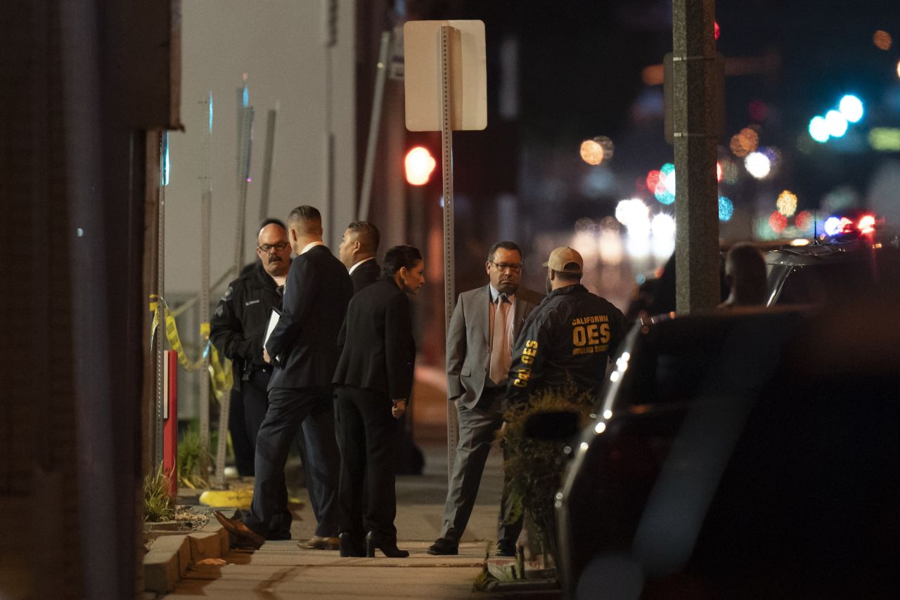
[[[537,538],[550,552],[554,563],[559,558],[554,503],[556,492],[562,487],[566,444],[527,437],[525,422],[537,413],[570,411],[581,415],[581,424],[586,425],[592,408],[592,397],[570,384],[536,394],[526,404],[509,407],[504,415],[507,425],[503,440],[509,455],[504,464],[506,486],[516,505],[509,518],[521,515],[522,511],[531,515]]]

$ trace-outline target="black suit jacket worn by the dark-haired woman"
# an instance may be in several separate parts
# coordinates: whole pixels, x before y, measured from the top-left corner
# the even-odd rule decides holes
[[[350,300],[338,347],[336,384],[410,399],[416,362],[410,299],[391,277],[383,276]]]

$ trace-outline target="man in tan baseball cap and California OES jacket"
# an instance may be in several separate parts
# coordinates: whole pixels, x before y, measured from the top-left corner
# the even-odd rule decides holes
[[[547,295],[528,316],[513,347],[507,398],[563,388],[596,394],[609,359],[626,334],[622,311],[581,285],[584,261],[562,246],[550,253]]]

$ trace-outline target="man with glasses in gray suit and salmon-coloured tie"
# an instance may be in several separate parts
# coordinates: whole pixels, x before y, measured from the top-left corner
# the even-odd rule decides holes
[[[514,242],[491,246],[485,264],[491,282],[459,295],[447,331],[447,399],[459,412],[459,445],[447,490],[441,537],[428,554],[456,554],[463,536],[491,442],[503,425],[512,345],[528,314],[540,303],[536,291],[518,286],[522,251]],[[500,498],[498,556],[514,556],[522,522],[505,523],[506,494]]]

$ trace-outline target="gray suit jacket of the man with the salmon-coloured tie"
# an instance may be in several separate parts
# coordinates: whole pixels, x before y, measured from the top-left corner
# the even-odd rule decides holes
[[[525,318],[544,297],[519,287],[513,313],[513,340]],[[482,398],[484,381],[491,363],[491,286],[464,291],[456,300],[447,331],[447,399],[459,399],[472,408]]]

